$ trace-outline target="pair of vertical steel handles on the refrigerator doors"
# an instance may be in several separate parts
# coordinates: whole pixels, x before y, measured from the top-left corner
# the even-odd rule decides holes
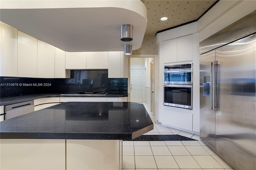
[[[218,111],[218,61],[214,61],[211,63],[211,86],[210,86],[210,93],[211,93],[211,109],[214,111]]]

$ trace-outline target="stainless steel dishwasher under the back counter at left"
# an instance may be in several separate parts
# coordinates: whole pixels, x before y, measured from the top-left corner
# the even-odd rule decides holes
[[[34,111],[34,100],[4,106],[4,120]]]

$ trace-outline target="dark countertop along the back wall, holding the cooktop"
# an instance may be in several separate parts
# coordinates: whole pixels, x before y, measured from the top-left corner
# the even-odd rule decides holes
[[[45,97],[128,97],[128,93],[108,93],[107,95],[97,96],[97,95],[68,95],[61,96],[60,94],[35,94],[35,95],[22,95],[14,97],[2,97],[0,98],[0,106],[2,105],[11,105],[15,103],[20,103],[24,101],[30,101]]]

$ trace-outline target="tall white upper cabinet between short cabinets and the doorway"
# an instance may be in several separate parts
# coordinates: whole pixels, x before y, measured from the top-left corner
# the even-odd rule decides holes
[[[108,78],[127,77],[127,56],[123,51],[108,51]]]

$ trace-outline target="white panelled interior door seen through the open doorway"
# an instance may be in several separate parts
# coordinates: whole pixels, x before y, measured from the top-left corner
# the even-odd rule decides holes
[[[143,102],[143,69],[131,69],[131,102]]]

